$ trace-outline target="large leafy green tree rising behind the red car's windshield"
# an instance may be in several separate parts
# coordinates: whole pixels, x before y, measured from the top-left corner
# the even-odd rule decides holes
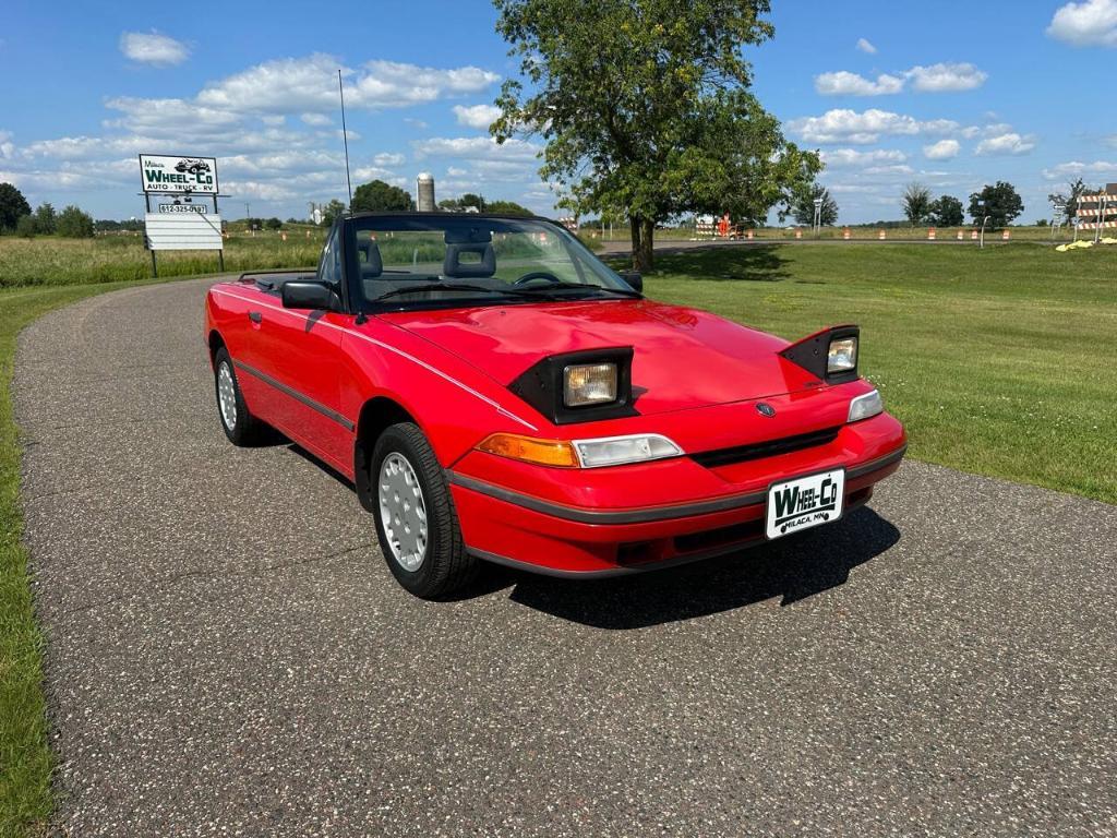
[[[743,48],[773,35],[767,0],[494,0],[524,80],[491,132],[545,141],[541,175],[579,215],[621,210],[633,265],[657,222],[758,220],[820,169],[748,92]]]

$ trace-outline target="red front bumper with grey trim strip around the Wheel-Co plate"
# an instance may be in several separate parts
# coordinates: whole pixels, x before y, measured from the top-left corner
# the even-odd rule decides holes
[[[567,470],[561,476],[550,469],[555,485],[546,497],[513,488],[522,484],[515,479],[516,467],[494,464],[499,458],[490,455],[462,459],[448,477],[462,537],[472,554],[584,579],[671,566],[763,543],[767,486],[787,477],[846,468],[844,511],[849,512],[865,504],[872,486],[899,467],[906,448],[899,422],[880,415],[847,426],[838,439],[819,448],[714,469],[722,488],[714,494],[695,476],[695,464],[678,460]],[[494,479],[502,466],[513,474]],[[579,482],[576,488],[573,480]],[[619,493],[618,486],[624,484],[631,491]],[[599,503],[571,503],[572,496]],[[649,496],[672,502],[617,503]]]

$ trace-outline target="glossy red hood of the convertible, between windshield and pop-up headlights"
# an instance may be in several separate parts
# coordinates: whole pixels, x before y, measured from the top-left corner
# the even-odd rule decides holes
[[[819,380],[777,353],[779,337],[648,299],[487,306],[380,315],[508,385],[550,355],[632,346],[643,415],[798,392]]]

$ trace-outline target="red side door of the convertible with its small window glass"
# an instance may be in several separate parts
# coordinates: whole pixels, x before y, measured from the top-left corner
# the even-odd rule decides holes
[[[322,249],[318,282],[341,291],[341,225]],[[326,311],[261,312],[268,332],[268,369],[281,393],[276,425],[335,467],[352,467],[353,421],[338,411],[341,341],[351,317]]]

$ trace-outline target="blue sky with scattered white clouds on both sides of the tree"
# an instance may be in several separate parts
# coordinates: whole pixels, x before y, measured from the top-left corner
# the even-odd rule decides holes
[[[819,149],[842,222],[900,217],[919,181],[963,201],[1009,180],[1022,220],[1081,175],[1117,181],[1117,0],[774,2],[755,92]],[[0,181],[32,204],[140,215],[136,154],[219,159],[222,213],[305,217],[344,198],[335,73],[354,182],[464,191],[554,213],[531,140],[486,125],[515,63],[487,0],[333,4],[8,0]],[[1106,78],[1109,80],[1106,82]]]

